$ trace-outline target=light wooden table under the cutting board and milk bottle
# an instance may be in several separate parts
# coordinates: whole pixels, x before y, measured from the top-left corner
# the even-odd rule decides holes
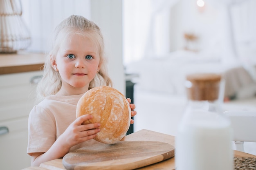
[[[124,141],[161,141],[161,142],[166,142],[168,144],[175,146],[174,136],[166,135],[163,133],[154,132],[150,130],[140,130],[138,132],[134,132],[130,135],[127,135],[122,140]],[[256,155],[251,155],[245,152],[234,150],[234,157],[255,157],[256,158]],[[139,168],[138,170],[174,170],[174,169],[175,169],[175,157],[159,163],[145,166],[143,168]],[[65,168],[63,167],[62,159],[55,159],[52,161],[42,163],[40,167],[29,167],[23,170],[65,170]]]

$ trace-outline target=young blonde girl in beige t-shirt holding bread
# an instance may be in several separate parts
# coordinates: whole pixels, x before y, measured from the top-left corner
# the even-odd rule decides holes
[[[112,85],[101,31],[94,22],[71,15],[55,29],[53,47],[38,84],[43,100],[29,114],[27,153],[32,166],[97,143],[93,138],[100,124],[81,125],[92,115],[76,118],[76,104],[86,91],[100,85]],[[130,104],[130,108],[132,116],[136,115],[135,105]]]

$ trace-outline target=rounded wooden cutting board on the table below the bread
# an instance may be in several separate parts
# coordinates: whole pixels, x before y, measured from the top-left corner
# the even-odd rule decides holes
[[[63,157],[67,170],[132,170],[169,159],[174,146],[158,141],[119,141],[94,144]]]

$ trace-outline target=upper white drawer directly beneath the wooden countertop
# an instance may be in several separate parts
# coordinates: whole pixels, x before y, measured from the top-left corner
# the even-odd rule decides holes
[[[0,75],[0,122],[28,116],[42,71]]]

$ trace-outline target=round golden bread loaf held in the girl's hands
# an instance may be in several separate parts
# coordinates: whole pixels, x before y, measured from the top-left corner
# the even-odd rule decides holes
[[[117,89],[109,86],[94,87],[79,99],[76,117],[85,114],[93,118],[83,124],[101,124],[101,131],[94,138],[101,143],[114,144],[120,141],[130,127],[131,109],[128,100]]]

